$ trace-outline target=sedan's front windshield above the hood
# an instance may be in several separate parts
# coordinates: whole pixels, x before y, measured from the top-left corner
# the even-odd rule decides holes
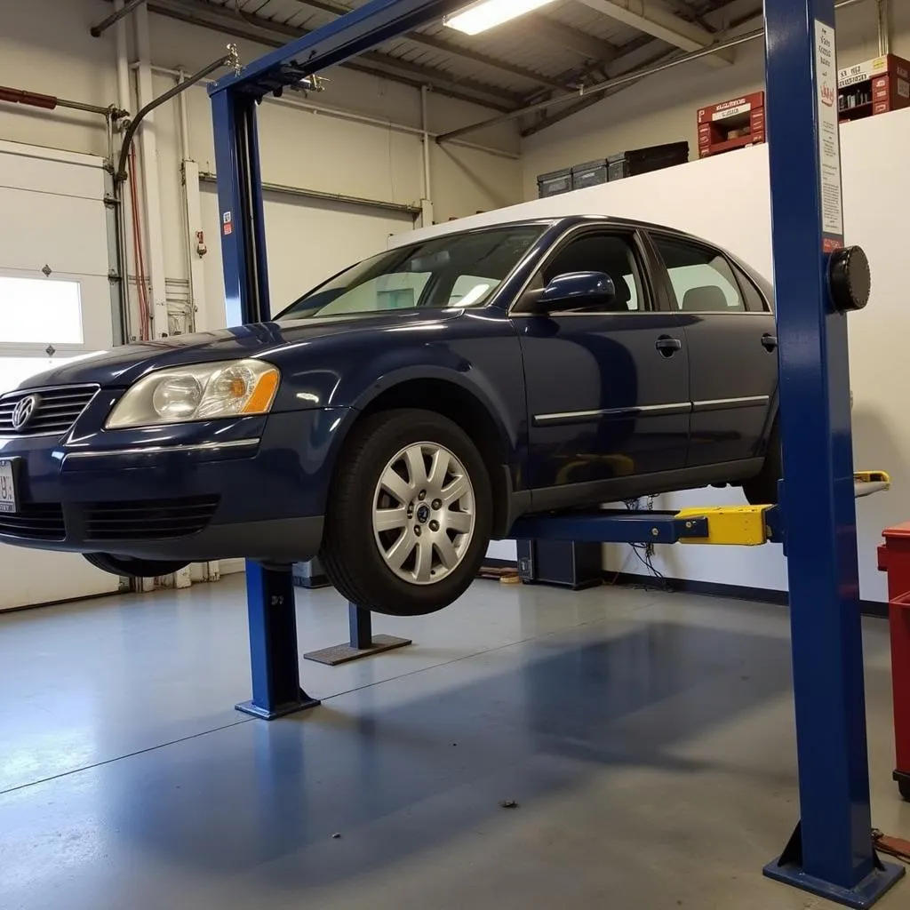
[[[494,227],[379,253],[298,298],[278,320],[417,307],[480,307],[543,229]]]

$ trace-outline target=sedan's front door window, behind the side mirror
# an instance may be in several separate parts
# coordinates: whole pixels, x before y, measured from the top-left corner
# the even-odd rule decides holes
[[[613,279],[616,298],[603,311],[628,313],[644,308],[635,254],[627,238],[595,233],[570,240],[541,269],[535,287],[568,272],[605,272]]]

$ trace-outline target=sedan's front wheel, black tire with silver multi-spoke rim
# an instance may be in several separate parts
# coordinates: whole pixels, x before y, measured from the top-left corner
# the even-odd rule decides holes
[[[400,409],[352,430],[329,494],[321,553],[351,602],[421,616],[457,600],[490,542],[490,478],[451,420]]]

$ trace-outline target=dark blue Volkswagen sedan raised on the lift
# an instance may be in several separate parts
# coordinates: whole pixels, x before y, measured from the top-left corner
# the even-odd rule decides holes
[[[780,473],[771,289],[605,217],[369,258],[271,322],[134,344],[0,398],[0,541],[119,575],[319,554],[439,610],[523,514]]]

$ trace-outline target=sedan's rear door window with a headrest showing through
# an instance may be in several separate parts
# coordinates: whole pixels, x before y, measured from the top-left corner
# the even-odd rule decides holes
[[[676,295],[676,305],[687,313],[736,313],[745,311],[727,260],[716,250],[681,240],[654,237]]]

